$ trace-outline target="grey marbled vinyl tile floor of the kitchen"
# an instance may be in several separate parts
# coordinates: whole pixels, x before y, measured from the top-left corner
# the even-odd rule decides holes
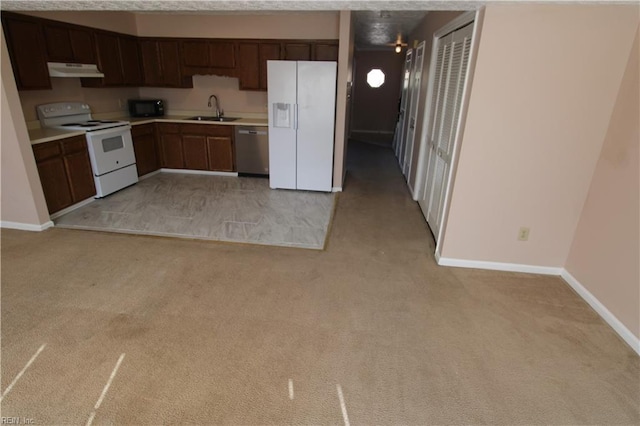
[[[323,249],[335,194],[259,177],[158,173],[56,219],[61,228]]]

